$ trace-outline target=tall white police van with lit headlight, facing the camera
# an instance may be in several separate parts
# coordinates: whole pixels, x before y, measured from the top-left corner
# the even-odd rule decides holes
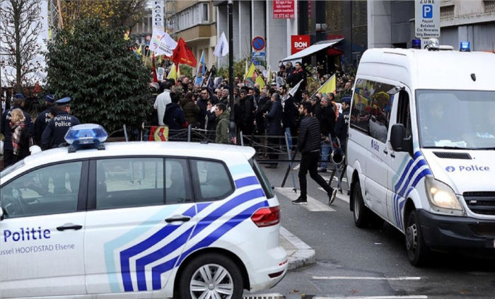
[[[356,74],[354,222],[395,226],[414,266],[431,250],[495,253],[495,55],[460,48],[368,49]]]

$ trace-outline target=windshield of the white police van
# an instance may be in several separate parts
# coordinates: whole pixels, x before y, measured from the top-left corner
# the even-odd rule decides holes
[[[423,148],[495,149],[495,91],[417,90]]]

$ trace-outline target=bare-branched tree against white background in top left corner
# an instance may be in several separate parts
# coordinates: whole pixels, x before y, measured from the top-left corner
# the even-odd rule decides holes
[[[41,1],[1,1],[1,76],[16,92],[30,93],[38,80],[37,72],[42,71],[40,61],[36,60],[41,50],[38,42],[42,30]]]

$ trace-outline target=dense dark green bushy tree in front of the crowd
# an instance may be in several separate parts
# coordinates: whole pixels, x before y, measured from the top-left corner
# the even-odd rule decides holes
[[[47,90],[73,99],[81,122],[103,125],[107,131],[138,128],[151,113],[149,71],[124,40],[124,28],[98,19],[80,20],[59,30],[46,54]]]

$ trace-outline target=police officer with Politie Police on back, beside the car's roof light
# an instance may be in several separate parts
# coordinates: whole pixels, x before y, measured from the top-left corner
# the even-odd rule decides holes
[[[69,114],[71,112],[70,104],[71,98],[69,97],[57,100],[59,115],[50,120],[47,128],[42,134],[42,150],[45,151],[50,148],[58,148],[60,144],[65,143],[64,137],[67,131],[69,131],[69,128],[81,124],[77,117]]]

